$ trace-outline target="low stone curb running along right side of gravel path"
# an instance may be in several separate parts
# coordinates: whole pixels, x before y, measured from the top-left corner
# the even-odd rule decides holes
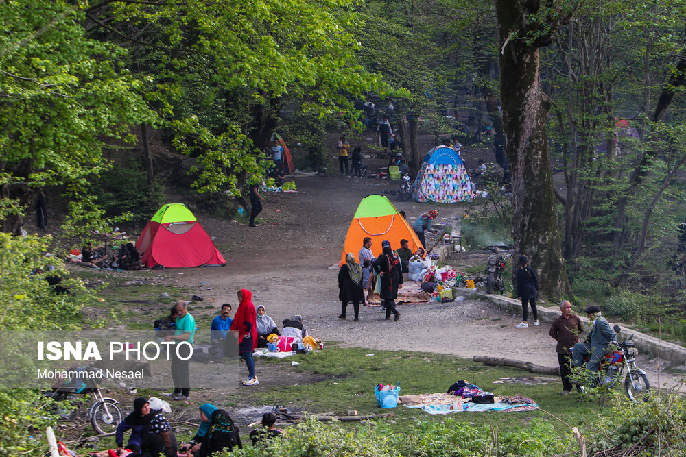
[[[521,314],[521,303],[519,300],[515,300],[508,297],[501,297],[500,295],[488,295],[482,291],[473,291],[468,288],[460,288],[460,295],[465,297],[472,297],[477,299],[488,300],[493,304],[496,304],[499,308],[514,312],[515,314]],[[552,323],[560,315],[559,308],[547,308],[536,304],[536,308],[539,312],[539,320]],[[589,319],[586,317],[579,316],[584,324],[589,323]],[[614,325],[611,323],[611,325]],[[622,332],[619,333],[618,339],[624,340],[628,336],[633,336],[633,341],[636,344],[637,349],[643,352],[643,354],[650,354],[651,356],[661,358],[662,360],[669,360],[670,362],[676,363],[678,365],[686,365],[686,347],[676,345],[674,343],[669,343],[667,341],[660,341],[654,336],[649,336],[636,330],[631,330],[626,328],[625,325],[620,325],[622,327]]]

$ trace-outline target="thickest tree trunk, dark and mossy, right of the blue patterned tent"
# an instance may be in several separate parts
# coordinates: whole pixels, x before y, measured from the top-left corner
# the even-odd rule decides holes
[[[569,297],[545,133],[550,101],[539,81],[541,44],[510,39],[510,34],[525,36],[523,21],[536,13],[538,5],[523,0],[496,0],[495,4],[503,125],[512,173],[514,250],[529,256],[545,297]]]

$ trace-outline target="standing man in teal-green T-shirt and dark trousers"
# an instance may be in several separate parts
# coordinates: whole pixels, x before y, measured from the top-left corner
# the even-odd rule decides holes
[[[174,395],[175,400],[189,400],[191,392],[191,381],[188,372],[189,356],[192,354],[193,335],[196,334],[196,319],[188,312],[185,301],[176,301],[176,327],[173,335],[165,337],[165,341],[174,341],[175,345],[183,341],[191,343],[174,347],[171,349],[171,379],[174,381]],[[178,352],[178,354],[177,354]],[[185,358],[186,360],[182,360]]]

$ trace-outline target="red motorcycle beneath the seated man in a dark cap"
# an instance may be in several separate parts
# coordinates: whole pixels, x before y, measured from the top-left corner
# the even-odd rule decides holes
[[[593,373],[591,384],[594,387],[606,386],[607,388],[624,385],[624,393],[632,402],[647,402],[650,383],[646,372],[636,366],[638,349],[632,341],[632,335],[624,341],[617,342],[617,335],[622,329],[619,325],[615,325],[613,330],[615,330],[615,338],[613,338],[615,341],[612,341],[611,347],[615,350],[602,358],[598,371]],[[584,362],[588,362],[589,357],[590,354],[584,356]],[[577,380],[570,380],[570,382],[584,390],[582,382]]]

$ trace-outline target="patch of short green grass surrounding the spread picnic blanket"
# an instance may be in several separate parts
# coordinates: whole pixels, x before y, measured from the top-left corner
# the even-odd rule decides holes
[[[367,356],[366,354],[375,354]],[[560,382],[549,384],[493,384],[499,378],[532,376],[532,373],[510,368],[486,367],[471,360],[406,351],[372,351],[364,348],[342,348],[328,345],[321,353],[295,356],[284,360],[258,359],[260,365],[290,364],[303,373],[303,384],[276,386],[268,392],[251,395],[255,404],[287,405],[308,412],[337,412],[345,414],[357,410],[360,415],[387,412],[376,405],[374,386],[379,382],[395,384],[400,382],[401,395],[445,392],[457,380],[477,384],[484,391],[495,395],[524,395],[531,397],[539,406],[567,423],[577,425],[584,417],[595,415],[595,404],[576,402],[576,394],[559,395]],[[320,382],[307,383],[311,375],[324,376]],[[399,406],[392,410],[396,419],[416,418],[421,420],[443,420],[421,410]],[[560,421],[542,411],[527,412],[464,412],[450,415],[459,422],[490,424],[499,427],[522,425],[533,417],[551,421],[562,433],[568,428]],[[407,423],[402,421],[401,423]]]

